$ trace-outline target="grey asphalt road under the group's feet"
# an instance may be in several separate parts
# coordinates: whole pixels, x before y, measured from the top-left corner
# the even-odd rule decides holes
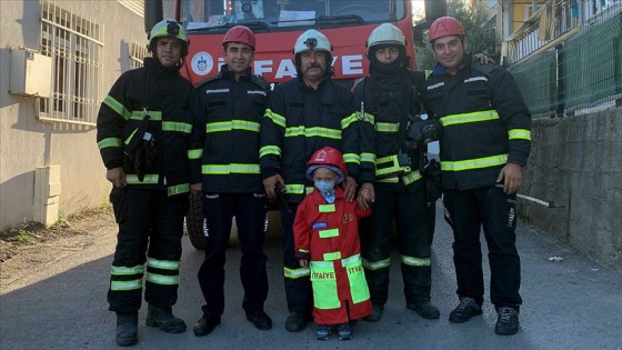
[[[439,208],[440,209],[440,208]],[[440,210],[439,210],[440,211]],[[466,323],[448,321],[457,304],[451,233],[438,218],[433,243],[432,301],[441,319],[424,320],[405,309],[399,257],[391,266],[390,301],[378,323],[359,322],[354,338],[340,341],[314,339],[314,327],[300,333],[284,330],[287,309],[282,284],[281,236],[278,217],[272,216],[265,244],[269,258],[270,293],[265,304],[274,327],[260,331],[245,320],[238,267],[240,251],[228,250],[228,304],[222,324],[203,338],[192,333],[203,303],[195,272],[202,251],[184,238],[177,316],[189,330],[167,334],[144,326],[146,307],[140,311],[139,344],[136,349],[622,349],[622,274],[589,260],[560,244],[544,232],[519,223],[518,244],[522,259],[521,329],[518,334],[494,334],[496,314],[484,303],[484,314]],[[110,233],[109,233],[110,234]],[[84,259],[68,269],[0,297],[1,349],[111,349],[114,314],[108,311],[106,291],[113,244],[103,258]],[[89,252],[87,252],[89,253]],[[561,261],[549,258],[561,257]],[[71,257],[58,261],[59,269]],[[82,259],[77,257],[76,259]],[[488,263],[488,262],[485,262]],[[488,269],[485,269],[488,271]],[[486,274],[488,278],[488,274]],[[486,296],[488,297],[488,296]]]

